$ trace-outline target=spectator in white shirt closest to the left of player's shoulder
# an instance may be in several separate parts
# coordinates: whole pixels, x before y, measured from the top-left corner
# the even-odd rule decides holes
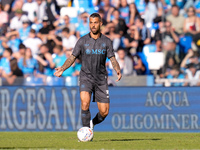
[[[72,50],[77,42],[75,35],[70,34],[69,28],[62,30],[62,46],[64,50]]]

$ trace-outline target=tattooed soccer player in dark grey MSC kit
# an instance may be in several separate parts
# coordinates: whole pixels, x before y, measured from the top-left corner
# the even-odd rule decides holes
[[[109,91],[107,84],[106,58],[108,57],[117,73],[117,81],[122,77],[120,67],[115,59],[112,42],[100,32],[102,25],[101,17],[98,13],[93,13],[89,17],[90,33],[81,37],[72,52],[72,55],[65,63],[56,68],[55,76],[60,77],[81,55],[82,67],[80,71],[80,98],[81,98],[81,119],[85,127],[93,130],[94,125],[101,123],[109,112]],[[91,119],[89,110],[91,94],[93,102],[97,102],[99,112]]]

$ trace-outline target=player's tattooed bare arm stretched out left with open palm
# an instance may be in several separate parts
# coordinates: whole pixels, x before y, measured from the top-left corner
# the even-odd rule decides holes
[[[68,69],[75,62],[75,60],[76,57],[71,55],[61,67],[55,68],[56,72],[54,73],[54,75],[57,77],[61,77],[62,73],[66,69]]]

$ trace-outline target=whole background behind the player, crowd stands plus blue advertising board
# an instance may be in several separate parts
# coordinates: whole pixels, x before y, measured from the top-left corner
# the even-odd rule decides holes
[[[0,130],[80,128],[81,58],[61,78],[53,69],[89,32],[88,15],[108,11],[102,31],[113,41],[123,78],[114,82],[108,60],[111,111],[95,130],[198,132],[199,88],[190,86],[199,86],[199,6],[198,0],[1,0]],[[169,23],[174,7],[180,9],[182,27]],[[196,13],[188,14],[189,9]],[[184,23],[188,18],[191,27]],[[96,105],[91,105],[94,115]]]

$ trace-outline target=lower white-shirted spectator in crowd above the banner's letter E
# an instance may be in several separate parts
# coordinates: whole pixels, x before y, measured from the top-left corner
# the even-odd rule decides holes
[[[42,44],[42,41],[36,37],[36,32],[34,29],[31,29],[29,37],[23,42],[23,44],[31,49],[33,57],[38,54],[39,47]]]

